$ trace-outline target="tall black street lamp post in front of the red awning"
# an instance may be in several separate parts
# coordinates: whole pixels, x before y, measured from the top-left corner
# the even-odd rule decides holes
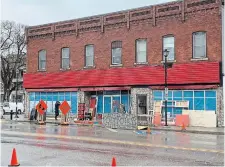
[[[165,69],[165,126],[167,125],[167,100],[168,100],[168,86],[167,86],[167,57],[169,55],[169,51],[167,49],[164,50],[164,69]]]

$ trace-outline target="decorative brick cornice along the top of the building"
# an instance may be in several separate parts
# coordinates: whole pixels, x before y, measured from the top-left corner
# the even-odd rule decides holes
[[[221,0],[183,0],[170,3],[146,6],[137,9],[114,12],[104,15],[85,17],[81,19],[31,26],[27,28],[27,39],[52,38],[61,35],[73,35],[88,31],[104,33],[105,29],[126,26],[130,29],[131,23],[149,22],[157,26],[157,20],[175,18],[185,21],[188,13],[196,13],[204,10],[217,10]],[[218,13],[220,11],[218,10]]]

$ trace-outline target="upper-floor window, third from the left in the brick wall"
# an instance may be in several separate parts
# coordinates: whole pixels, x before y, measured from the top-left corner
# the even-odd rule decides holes
[[[94,66],[94,45],[85,46],[85,66]]]

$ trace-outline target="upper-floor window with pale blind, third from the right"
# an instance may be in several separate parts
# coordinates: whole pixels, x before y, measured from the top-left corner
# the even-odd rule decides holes
[[[147,62],[147,40],[136,40],[136,63]]]

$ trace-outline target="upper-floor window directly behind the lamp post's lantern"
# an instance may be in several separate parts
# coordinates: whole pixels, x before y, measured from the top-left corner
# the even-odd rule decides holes
[[[163,37],[163,51],[165,49],[167,49],[169,51],[169,55],[167,57],[167,60],[169,60],[169,61],[175,60],[175,53],[174,53],[175,49],[174,49],[174,37],[173,36]],[[164,55],[163,55],[163,60],[165,60]]]

